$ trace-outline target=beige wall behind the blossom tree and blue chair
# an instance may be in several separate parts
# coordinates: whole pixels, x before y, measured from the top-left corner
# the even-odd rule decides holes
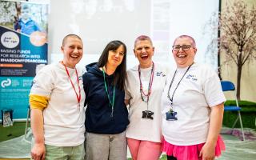
[[[233,0],[222,0],[222,8],[226,6],[226,2],[230,3]],[[255,0],[244,0],[248,6],[256,6]],[[237,66],[234,62],[222,65],[225,60],[225,55],[220,54],[221,58],[221,76],[222,80],[230,80],[237,84]],[[230,94],[225,94],[227,99],[232,99]],[[241,78],[241,100],[256,102],[256,60],[251,59],[242,66]]]

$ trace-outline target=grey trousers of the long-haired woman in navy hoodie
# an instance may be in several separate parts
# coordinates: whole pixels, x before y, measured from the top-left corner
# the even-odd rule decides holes
[[[86,160],[126,160],[126,132],[121,134],[86,133]]]

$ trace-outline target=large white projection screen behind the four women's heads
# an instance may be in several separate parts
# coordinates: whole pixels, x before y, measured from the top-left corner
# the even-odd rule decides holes
[[[174,38],[189,34],[198,46],[197,62],[206,62],[217,70],[217,50],[207,46],[218,32],[206,30],[206,24],[218,12],[216,0],[62,0],[50,2],[50,62],[62,59],[60,46],[66,34],[82,37],[84,56],[79,66],[98,61],[106,44],[118,39],[128,50],[127,68],[138,64],[134,40],[141,34],[152,38],[154,61],[174,67],[171,46]]]

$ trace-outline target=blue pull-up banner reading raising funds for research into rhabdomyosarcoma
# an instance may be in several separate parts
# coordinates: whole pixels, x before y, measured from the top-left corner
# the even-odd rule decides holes
[[[0,1],[0,10],[0,110],[26,118],[32,80],[48,62],[48,4]]]

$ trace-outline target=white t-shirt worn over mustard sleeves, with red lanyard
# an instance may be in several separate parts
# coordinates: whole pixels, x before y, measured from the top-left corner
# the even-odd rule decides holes
[[[77,75],[67,68],[78,93]],[[45,143],[51,146],[78,146],[84,142],[85,133],[85,93],[82,85],[82,70],[78,69],[81,101],[78,99],[66,69],[61,63],[47,65],[34,78],[30,94],[50,98],[43,110]]]

